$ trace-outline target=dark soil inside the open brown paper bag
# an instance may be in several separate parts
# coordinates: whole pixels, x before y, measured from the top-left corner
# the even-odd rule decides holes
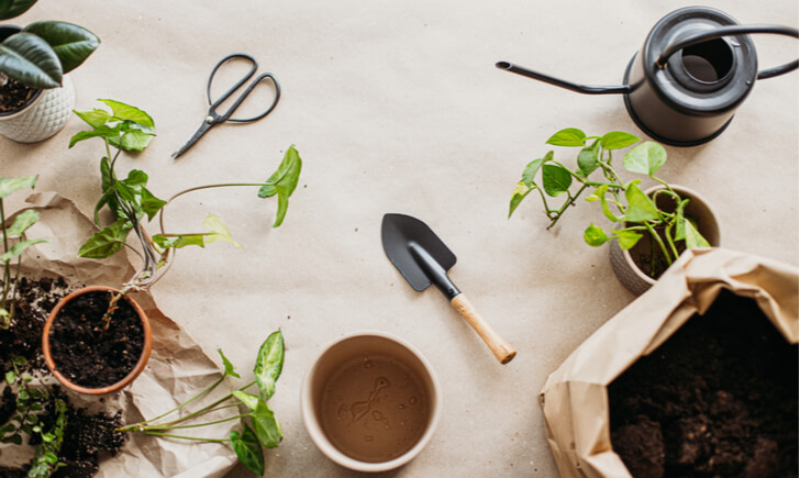
[[[608,391],[635,477],[797,476],[798,346],[752,299],[723,291]]]

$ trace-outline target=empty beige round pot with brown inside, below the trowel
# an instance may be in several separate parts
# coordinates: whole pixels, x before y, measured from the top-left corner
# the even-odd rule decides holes
[[[382,332],[360,332],[325,347],[303,380],[300,405],[305,430],[325,456],[356,471],[378,473],[422,452],[438,423],[441,394],[431,364],[414,346]],[[395,449],[365,457],[385,445]]]

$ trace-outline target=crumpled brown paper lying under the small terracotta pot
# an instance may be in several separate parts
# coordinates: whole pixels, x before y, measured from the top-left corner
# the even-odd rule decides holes
[[[105,260],[77,256],[81,244],[97,227],[73,201],[53,192],[34,193],[26,201],[27,207],[42,215],[27,236],[48,242],[25,253],[23,277],[64,278],[73,288],[91,285],[119,288],[132,277],[134,268],[125,254]],[[111,414],[121,409],[124,423],[135,423],[171,410],[221,376],[218,365],[186,331],[158,310],[151,294],[137,293],[133,298],[147,313],[153,327],[153,352],[145,370],[130,387],[118,394],[103,397],[102,402],[96,397],[68,392],[76,407],[100,409]],[[205,416],[209,421],[225,416],[218,413]],[[235,421],[200,430],[203,436],[224,438],[234,426]],[[4,448],[0,452],[5,452],[3,460],[9,456],[9,447]],[[235,460],[235,454],[224,444],[131,434],[119,455],[100,464],[97,476],[221,477],[233,468]]]

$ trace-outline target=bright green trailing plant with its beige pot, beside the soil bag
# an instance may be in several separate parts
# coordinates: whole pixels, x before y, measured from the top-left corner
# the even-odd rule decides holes
[[[546,144],[579,148],[577,168],[557,160],[554,151],[529,163],[511,196],[509,218],[536,191],[551,229],[587,192],[586,201],[597,202],[614,227],[591,223],[584,240],[595,247],[611,243],[613,270],[632,292],[647,290],[685,249],[719,245],[719,226],[708,202],[655,176],[667,159],[660,144],[619,131],[587,136],[575,127],[557,132]],[[633,145],[622,166],[655,181],[649,189],[640,188],[641,179],[624,181],[613,165],[612,152]],[[553,205],[548,198],[559,198],[560,203]]]

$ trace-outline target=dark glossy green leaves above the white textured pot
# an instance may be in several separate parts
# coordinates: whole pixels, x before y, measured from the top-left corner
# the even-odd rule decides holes
[[[36,0],[0,0],[0,20],[24,13]],[[0,43],[0,75],[33,88],[56,88],[64,74],[82,64],[100,38],[82,26],[43,21]]]

